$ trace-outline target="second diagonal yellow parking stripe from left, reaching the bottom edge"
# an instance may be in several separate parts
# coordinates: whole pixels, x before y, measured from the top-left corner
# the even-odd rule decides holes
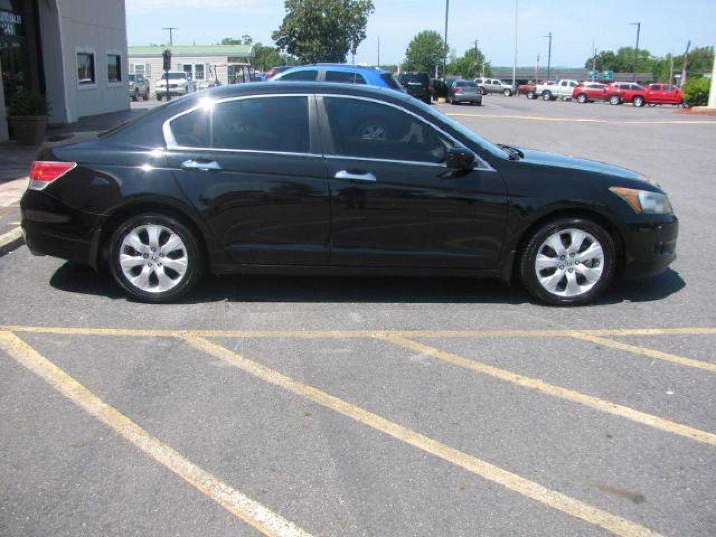
[[[435,455],[442,460],[446,460],[449,463],[460,466],[468,470],[470,473],[498,483],[504,487],[513,490],[516,493],[532,498],[545,505],[549,505],[552,508],[558,509],[563,513],[568,513],[571,516],[576,516],[584,521],[605,528],[606,530],[616,533],[620,536],[657,536],[658,534],[654,531],[639,526],[639,524],[632,521],[628,521],[619,516],[612,515],[606,511],[594,508],[591,505],[583,503],[575,498],[571,498],[568,495],[564,495],[551,490],[543,485],[534,483],[531,480],[522,478],[519,475],[499,468],[498,466],[492,465],[485,462],[484,460],[468,455],[455,448],[432,440],[432,438],[425,435],[421,435],[419,432],[398,425],[395,422],[385,419],[379,415],[375,415],[372,412],[352,405],[351,403],[334,397],[326,392],[321,392],[314,387],[299,382],[291,377],[287,377],[274,369],[270,369],[258,362],[253,362],[241,354],[236,354],[226,347],[222,347],[219,344],[209,342],[202,337],[198,337],[195,334],[181,334],[178,335],[181,339],[188,342],[191,346],[199,349],[200,351],[206,352],[213,357],[221,359],[223,362],[231,364],[239,369],[253,374],[255,377],[262,379],[265,382],[269,382],[284,390],[288,390],[301,397],[306,397],[319,405],[322,405],[330,410],[339,412],[340,414],[350,417],[363,425],[372,427],[375,430],[384,432],[386,435],[392,436],[397,440],[401,440],[415,448],[418,448],[426,453]]]

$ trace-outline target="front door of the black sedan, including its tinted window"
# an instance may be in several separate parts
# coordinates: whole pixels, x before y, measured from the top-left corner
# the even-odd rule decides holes
[[[332,265],[495,269],[506,191],[490,165],[448,170],[445,149],[458,142],[397,105],[329,95],[317,104]]]

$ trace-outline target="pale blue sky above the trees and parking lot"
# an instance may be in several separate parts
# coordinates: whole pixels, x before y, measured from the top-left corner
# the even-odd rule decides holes
[[[399,62],[410,39],[425,29],[442,34],[445,2],[442,0],[374,0],[367,38],[356,62]],[[547,39],[553,33],[552,64],[576,67],[597,49],[634,45],[636,26],[642,23],[639,48],[653,54],[681,53],[716,42],[716,0],[519,0],[518,65],[531,67],[537,54],[546,64]],[[175,44],[211,44],[223,37],[250,34],[255,41],[271,43],[271,32],[284,16],[283,0],[127,0],[130,45],[168,42],[164,26],[178,26]],[[513,0],[450,0],[448,42],[463,54],[480,40],[479,47],[493,65],[513,62],[515,2]]]

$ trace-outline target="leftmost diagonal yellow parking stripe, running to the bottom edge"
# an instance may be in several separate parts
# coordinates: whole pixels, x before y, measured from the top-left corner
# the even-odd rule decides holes
[[[294,523],[287,521],[248,496],[223,483],[211,473],[192,463],[169,445],[150,435],[135,422],[107,405],[69,374],[39,354],[11,332],[0,331],[0,348],[26,369],[44,379],[64,397],[85,412],[112,427],[122,437],[145,454],[173,471],[204,495],[221,505],[226,511],[241,518],[267,536],[309,537]]]

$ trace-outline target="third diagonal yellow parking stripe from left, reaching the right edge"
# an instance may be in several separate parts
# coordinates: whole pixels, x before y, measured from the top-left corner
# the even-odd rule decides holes
[[[614,402],[599,399],[598,397],[586,395],[581,392],[575,392],[574,390],[569,390],[568,388],[557,386],[556,384],[549,384],[548,382],[544,382],[540,379],[533,379],[531,377],[526,377],[525,375],[513,373],[505,369],[500,369],[499,367],[485,364],[483,362],[463,358],[457,354],[428,347],[422,343],[414,342],[410,339],[405,339],[404,337],[395,336],[394,334],[383,334],[381,337],[387,342],[396,344],[398,347],[410,349],[412,351],[419,352],[420,354],[440,359],[443,362],[448,362],[449,364],[464,367],[465,369],[471,369],[472,371],[478,373],[488,374],[490,377],[495,377],[497,379],[504,380],[505,382],[511,382],[512,384],[518,384],[518,386],[543,392],[548,395],[552,395],[553,397],[559,397],[563,400],[576,402],[580,405],[593,408],[594,410],[599,410],[600,412],[606,412],[611,415],[624,417],[627,420],[639,422],[642,425],[648,425],[649,427],[654,427],[655,429],[662,431],[671,432],[674,435],[687,437],[690,440],[704,442],[709,445],[716,445],[716,435],[711,432],[702,431],[700,429],[696,429],[695,427],[689,427],[688,425],[667,420],[663,417],[647,414],[646,412],[640,412],[639,410],[634,410],[633,408],[617,405]]]

